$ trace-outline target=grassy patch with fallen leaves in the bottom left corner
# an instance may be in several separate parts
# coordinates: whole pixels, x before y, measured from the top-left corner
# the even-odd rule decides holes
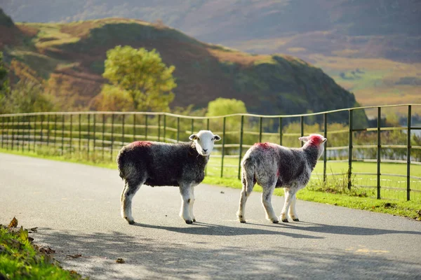
[[[28,230],[0,225],[0,279],[83,279],[74,270],[62,269],[53,253],[32,244]]]

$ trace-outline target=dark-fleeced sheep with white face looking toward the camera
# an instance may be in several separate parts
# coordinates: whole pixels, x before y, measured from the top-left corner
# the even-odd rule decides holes
[[[117,156],[120,177],[126,181],[121,193],[121,216],[135,223],[131,203],[142,184],[179,186],[182,197],[180,216],[186,223],[196,221],[193,215],[194,186],[205,178],[205,167],[215,141],[221,137],[209,130],[192,134],[190,142],[167,144],[135,141],[124,146]]]

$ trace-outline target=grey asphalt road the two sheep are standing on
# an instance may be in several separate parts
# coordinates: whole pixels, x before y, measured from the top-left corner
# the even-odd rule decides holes
[[[201,185],[197,223],[178,216],[178,188],[142,186],[128,225],[122,188],[116,170],[0,153],[0,223],[38,227],[37,244],[91,279],[421,279],[417,221],[298,200],[302,221],[275,225],[253,193],[241,224],[240,190]]]

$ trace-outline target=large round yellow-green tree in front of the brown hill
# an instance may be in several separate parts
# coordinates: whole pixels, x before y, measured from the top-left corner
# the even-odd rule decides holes
[[[102,74],[113,87],[105,87],[107,97],[121,94],[136,111],[168,111],[174,99],[171,90],[177,86],[174,66],[167,67],[156,50],[135,49],[121,45],[107,51]]]

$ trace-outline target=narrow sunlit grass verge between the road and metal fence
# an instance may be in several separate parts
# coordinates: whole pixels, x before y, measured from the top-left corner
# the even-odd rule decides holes
[[[59,160],[65,162],[76,162],[85,165],[93,165],[96,167],[105,167],[116,169],[115,162],[102,162],[96,160],[93,156],[91,160],[79,157],[74,154],[70,155],[46,155],[43,151],[36,152],[23,152],[11,151],[0,148],[0,153],[11,153],[15,155],[25,155],[33,158],[45,158],[48,160]],[[421,221],[421,203],[417,201],[401,201],[401,200],[377,200],[371,198],[372,193],[368,193],[366,188],[353,188],[348,190],[344,185],[346,180],[333,176],[332,179],[326,183],[319,179],[310,181],[309,185],[300,190],[297,194],[299,200],[306,200],[311,202],[319,202],[325,204],[336,205],[340,207],[348,207],[352,209],[361,209],[367,211],[374,211],[395,216],[403,216],[413,218]],[[203,183],[215,186],[225,186],[229,188],[241,189],[241,181],[236,178],[220,178],[219,176],[206,176]],[[255,186],[255,191],[261,192],[260,186]],[[283,195],[283,189],[276,189],[274,195]]]

